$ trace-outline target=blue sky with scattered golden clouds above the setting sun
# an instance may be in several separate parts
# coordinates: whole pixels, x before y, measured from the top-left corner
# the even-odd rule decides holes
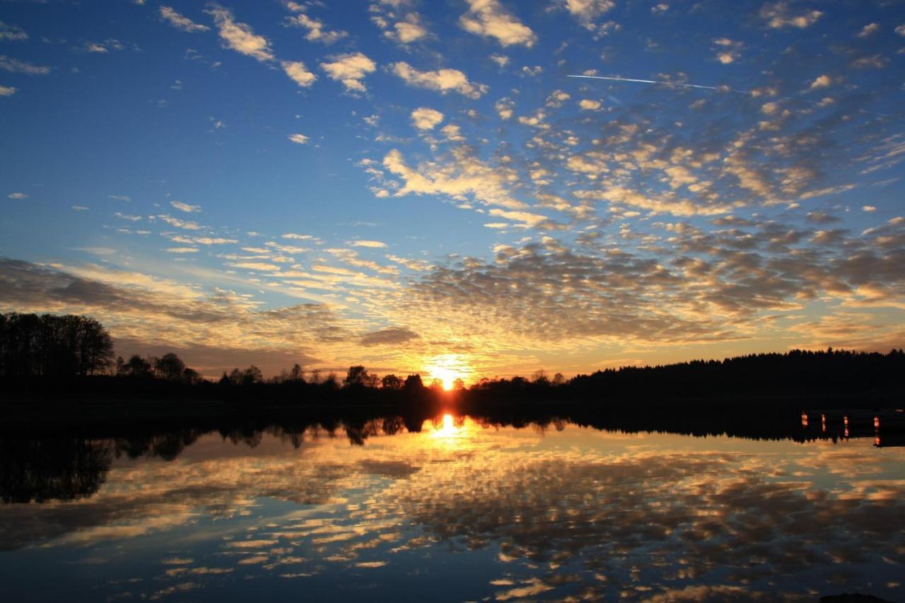
[[[0,2],[0,311],[211,377],[899,348],[903,74],[896,0]]]

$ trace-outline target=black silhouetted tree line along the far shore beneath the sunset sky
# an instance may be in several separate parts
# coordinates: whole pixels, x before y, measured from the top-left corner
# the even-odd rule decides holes
[[[100,322],[84,316],[0,314],[0,378],[41,381],[45,378],[116,377],[119,386],[102,391],[140,394],[181,391],[235,400],[282,399],[299,402],[327,398],[356,403],[396,402],[440,397],[443,384],[424,384],[420,374],[379,376],[362,365],[345,377],[300,364],[269,379],[261,369],[224,371],[217,381],[202,378],[176,353],[114,359],[110,334]],[[97,381],[94,381],[97,382]],[[127,385],[131,384],[131,385]],[[155,385],[157,384],[157,385]],[[160,385],[164,384],[164,385]],[[164,387],[166,386],[166,387]],[[905,389],[905,352],[887,354],[825,349],[793,349],[786,353],[750,354],[722,360],[692,360],[654,367],[622,367],[589,375],[552,378],[538,370],[529,378],[482,378],[453,389],[463,405],[493,406],[510,401],[633,400],[638,398],[738,398],[757,396],[900,394]],[[167,389],[169,388],[169,389]]]

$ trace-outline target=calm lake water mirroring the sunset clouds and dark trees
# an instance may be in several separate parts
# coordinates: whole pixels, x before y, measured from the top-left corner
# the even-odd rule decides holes
[[[4,599],[905,600],[905,447],[873,436],[363,433],[6,437]]]

